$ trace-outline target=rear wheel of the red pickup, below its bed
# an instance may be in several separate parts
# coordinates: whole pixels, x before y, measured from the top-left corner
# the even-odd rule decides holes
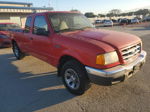
[[[25,54],[20,50],[16,42],[13,42],[12,49],[17,60],[21,60],[25,57]]]

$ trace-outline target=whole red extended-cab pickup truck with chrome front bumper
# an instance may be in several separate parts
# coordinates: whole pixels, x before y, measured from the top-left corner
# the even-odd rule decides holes
[[[24,31],[13,34],[17,59],[33,55],[58,68],[66,88],[83,94],[90,76],[121,82],[143,66],[146,52],[137,36],[96,29],[77,12],[45,12],[27,17]]]

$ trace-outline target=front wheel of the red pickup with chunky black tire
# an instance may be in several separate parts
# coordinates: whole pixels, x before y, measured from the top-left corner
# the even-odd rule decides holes
[[[72,84],[76,83],[74,88],[71,87],[71,81],[70,83],[67,81],[70,80],[68,75],[66,75],[68,74],[67,72],[73,74],[73,79],[71,78],[72,76],[70,76],[70,79],[73,80]],[[82,95],[90,87],[90,81],[84,66],[76,60],[66,62],[61,69],[60,75],[66,88],[73,94]]]

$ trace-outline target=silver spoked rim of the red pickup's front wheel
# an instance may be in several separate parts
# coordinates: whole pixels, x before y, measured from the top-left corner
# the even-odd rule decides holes
[[[78,89],[80,86],[79,76],[73,69],[67,69],[65,71],[65,82],[67,86],[71,89]]]

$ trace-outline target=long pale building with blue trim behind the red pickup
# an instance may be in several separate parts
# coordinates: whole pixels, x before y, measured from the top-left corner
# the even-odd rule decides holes
[[[0,1],[0,23],[17,23],[24,27],[28,15],[51,10],[52,7],[33,7],[32,3]]]

